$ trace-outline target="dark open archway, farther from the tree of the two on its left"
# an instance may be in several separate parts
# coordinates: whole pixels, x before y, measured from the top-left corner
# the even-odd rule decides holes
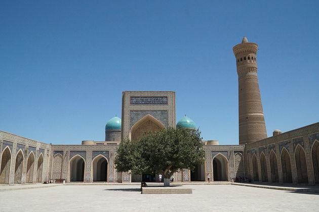
[[[70,181],[83,182],[84,181],[84,159],[75,155],[70,161]]]

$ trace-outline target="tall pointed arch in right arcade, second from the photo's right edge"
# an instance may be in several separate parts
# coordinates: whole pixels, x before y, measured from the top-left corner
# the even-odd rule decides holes
[[[303,147],[298,144],[295,149],[296,169],[298,183],[308,183],[308,169],[306,153]]]

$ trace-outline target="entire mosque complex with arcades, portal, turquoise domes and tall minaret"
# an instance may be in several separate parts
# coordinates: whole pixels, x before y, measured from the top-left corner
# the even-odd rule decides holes
[[[257,182],[319,183],[319,123],[267,138],[257,77],[256,43],[244,37],[233,47],[238,75],[239,144],[218,145],[203,141],[205,164],[194,171],[179,170],[177,182],[249,178]],[[50,179],[66,182],[154,181],[155,176],[119,173],[114,168],[116,149],[122,139],[138,139],[148,131],[168,127],[196,129],[183,117],[176,123],[175,92],[124,91],[122,120],[110,119],[105,141],[82,145],[50,145],[0,131],[0,184],[24,184]]]

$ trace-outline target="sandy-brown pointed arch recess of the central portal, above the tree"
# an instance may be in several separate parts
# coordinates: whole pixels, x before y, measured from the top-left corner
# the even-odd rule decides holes
[[[147,114],[132,126],[129,139],[137,140],[147,132],[157,132],[164,128],[165,126],[162,122]]]

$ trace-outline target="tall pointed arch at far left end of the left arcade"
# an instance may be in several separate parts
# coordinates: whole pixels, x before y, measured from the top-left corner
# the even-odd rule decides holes
[[[11,151],[7,146],[1,154],[0,184],[9,184],[10,178]]]

